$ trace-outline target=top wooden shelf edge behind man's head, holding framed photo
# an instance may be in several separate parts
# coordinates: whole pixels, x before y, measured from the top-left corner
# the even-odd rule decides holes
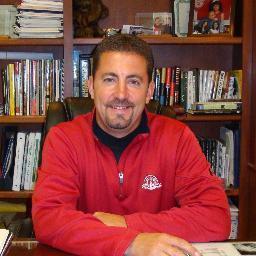
[[[235,45],[242,44],[242,37],[173,37],[173,36],[142,36],[150,44],[179,44],[179,45]],[[76,38],[74,45],[98,44],[102,38]]]

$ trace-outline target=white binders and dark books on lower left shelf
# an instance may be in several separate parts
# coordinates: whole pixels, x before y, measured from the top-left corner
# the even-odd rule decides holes
[[[37,179],[41,132],[10,132],[5,137],[1,189],[33,190]]]

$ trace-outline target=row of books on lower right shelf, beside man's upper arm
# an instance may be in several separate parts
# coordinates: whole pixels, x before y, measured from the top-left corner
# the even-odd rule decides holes
[[[198,136],[199,144],[212,171],[223,179],[225,187],[239,187],[239,127],[221,127],[219,139]]]

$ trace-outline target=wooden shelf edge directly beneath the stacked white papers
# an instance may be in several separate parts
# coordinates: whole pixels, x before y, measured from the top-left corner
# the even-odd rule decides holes
[[[63,38],[57,39],[20,39],[20,38],[0,38],[0,46],[43,46],[43,45],[64,45]]]

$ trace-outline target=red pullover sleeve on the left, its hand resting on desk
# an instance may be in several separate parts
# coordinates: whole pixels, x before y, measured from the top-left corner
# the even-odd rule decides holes
[[[72,143],[53,128],[44,143],[32,198],[37,240],[77,255],[124,255],[138,231],[107,227],[92,214],[77,210],[79,177],[75,166]]]

